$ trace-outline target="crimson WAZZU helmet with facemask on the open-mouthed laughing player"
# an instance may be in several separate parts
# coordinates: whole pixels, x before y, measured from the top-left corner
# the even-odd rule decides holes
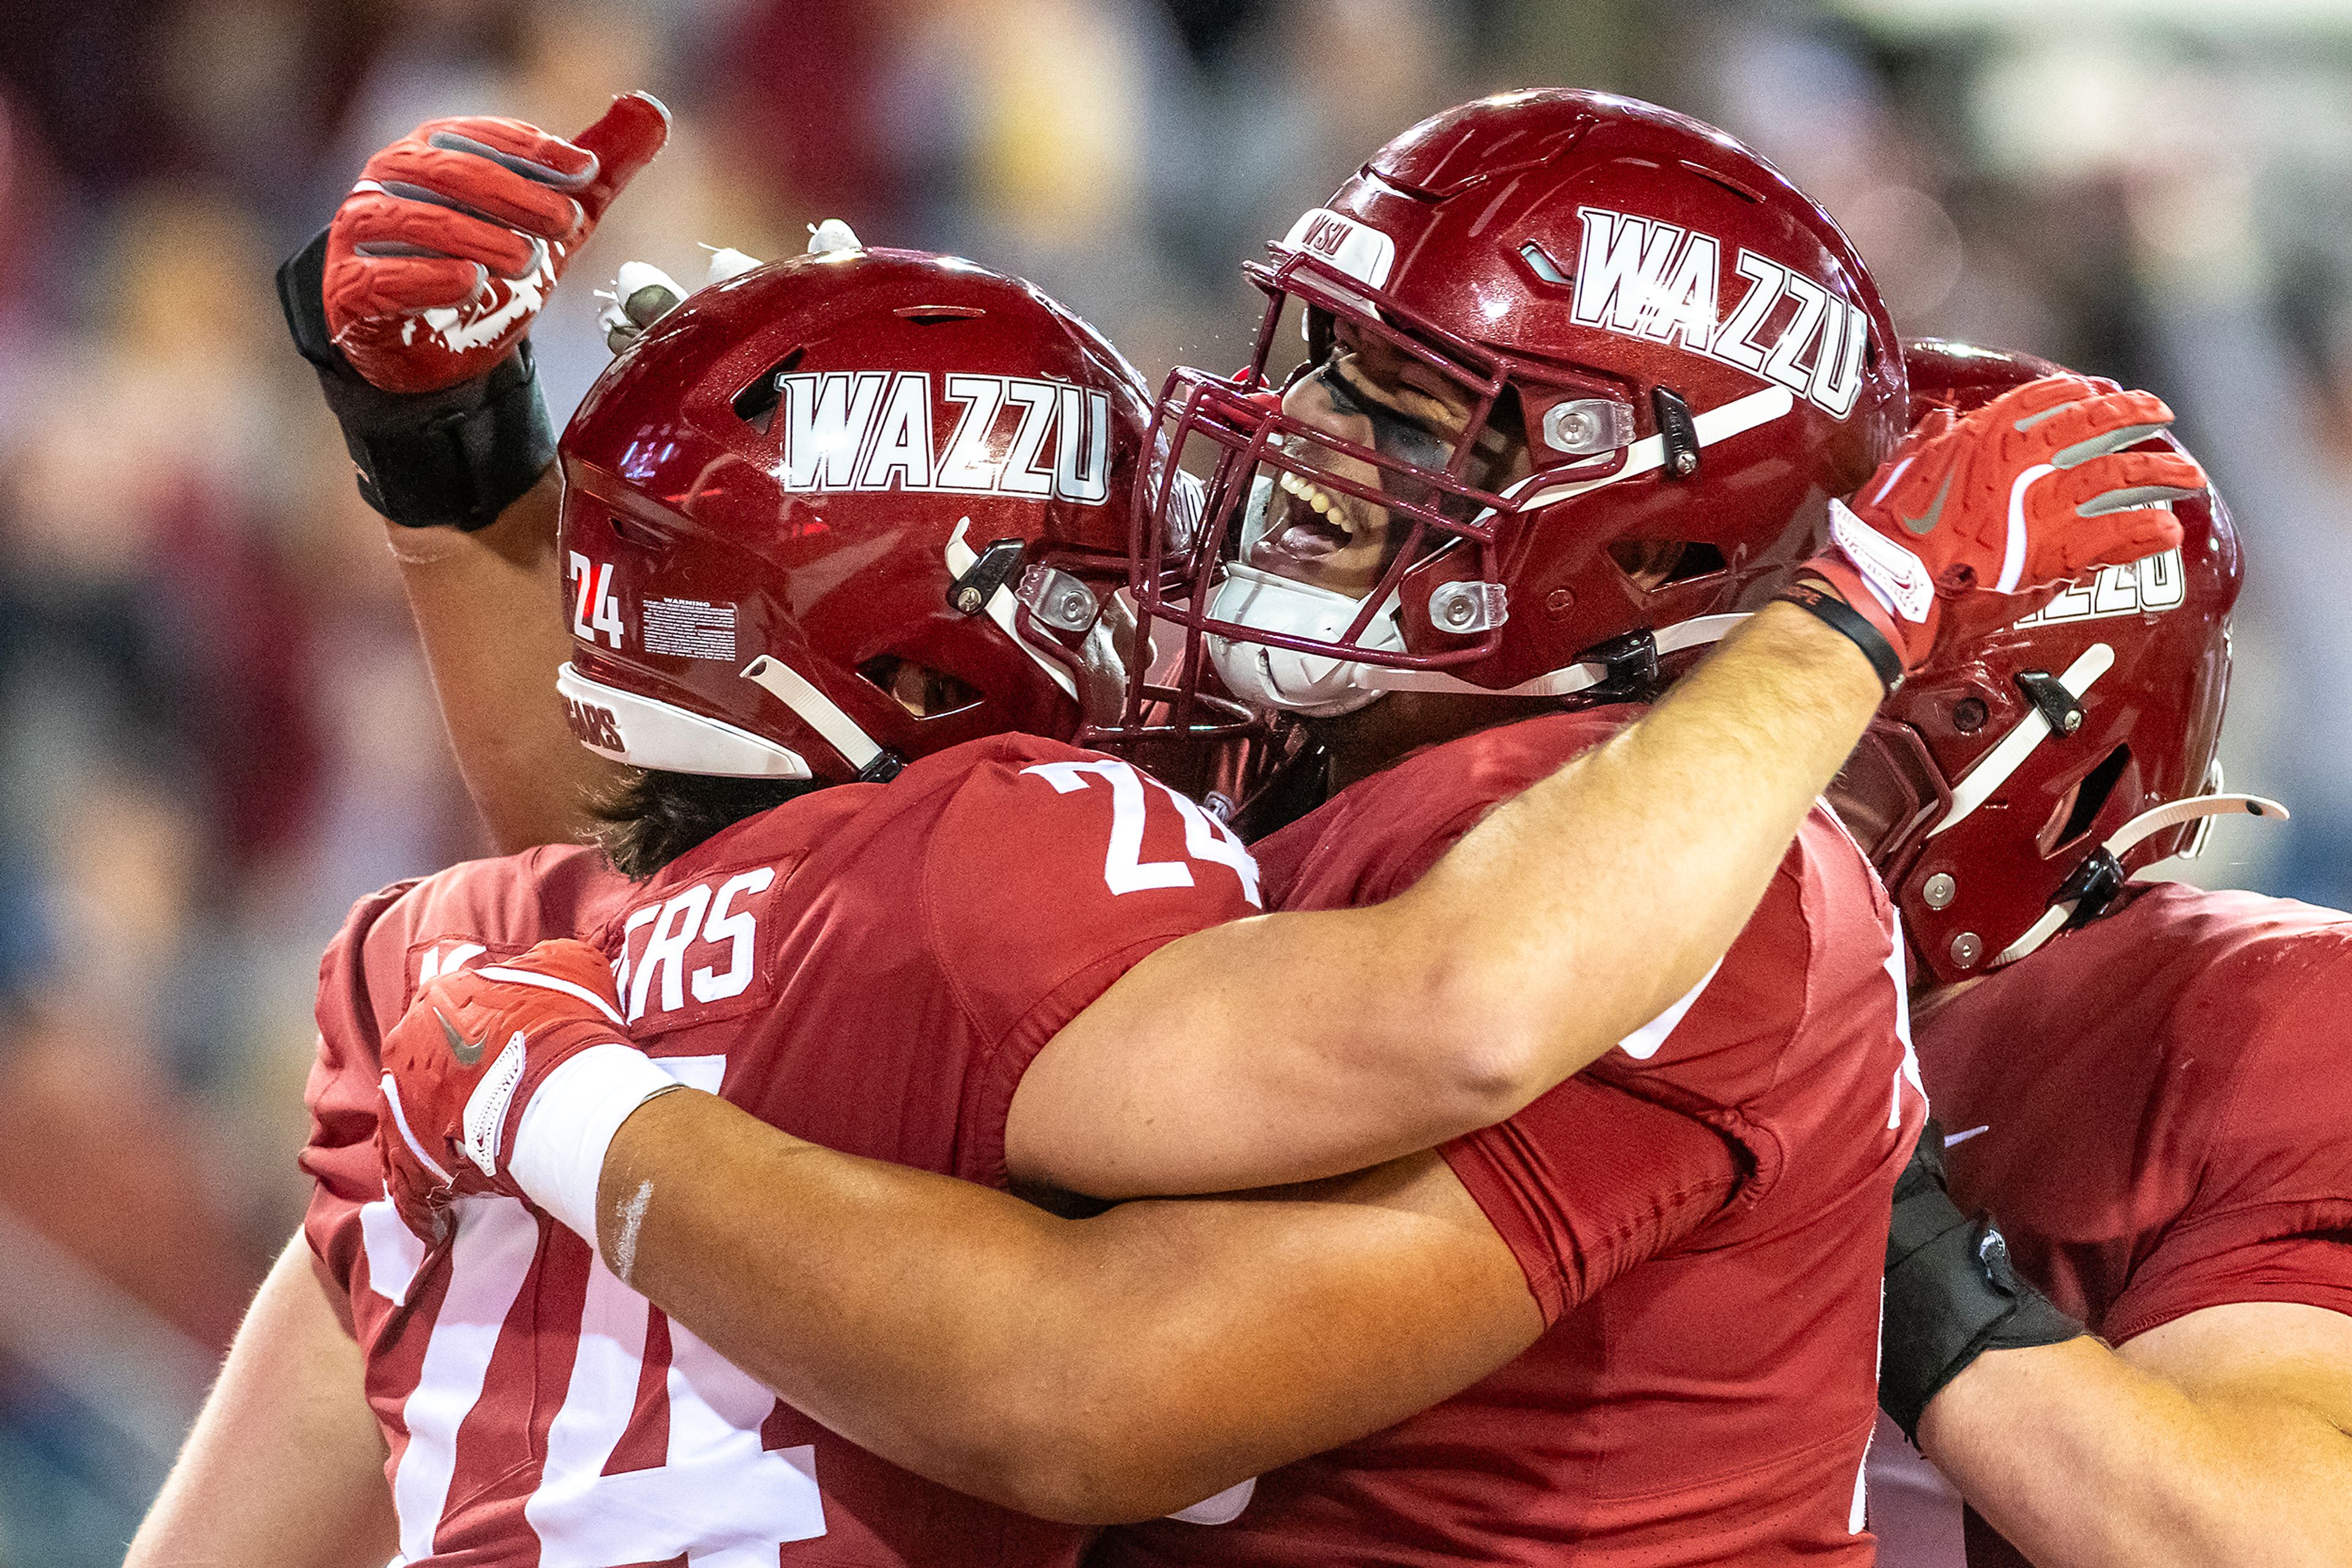
[[[1178,684],[1207,642],[1268,708],[1564,696],[1703,642],[1722,628],[1698,618],[1809,552],[1828,498],[1905,430],[1903,355],[1837,223],[1731,136],[1632,99],[1517,92],[1425,120],[1247,275],[1268,296],[1249,367],[1162,390],[1134,585],[1185,628]],[[1282,390],[1338,374],[1336,341],[1378,346],[1465,423],[1374,409],[1359,444],[1287,414]],[[1388,517],[1369,592],[1254,564],[1277,536],[1352,541],[1345,498]]]

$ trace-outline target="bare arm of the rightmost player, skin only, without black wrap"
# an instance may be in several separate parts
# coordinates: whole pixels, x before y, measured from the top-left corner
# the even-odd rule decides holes
[[[2206,1307],[2107,1349],[1980,1356],[1919,1446],[2042,1568],[2321,1568],[2352,1554],[2352,1319]]]

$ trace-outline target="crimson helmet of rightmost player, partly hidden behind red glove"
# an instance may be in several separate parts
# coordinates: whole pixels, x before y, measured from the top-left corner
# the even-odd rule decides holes
[[[2058,371],[1940,341],[1903,355],[1915,414]],[[2194,853],[2218,813],[2286,816],[2223,795],[2213,759],[2241,567],[2230,508],[2204,491],[2173,512],[2180,550],[2107,567],[2011,625],[1945,635],[1839,773],[1830,797],[1938,983],[2093,919],[2131,872]]]

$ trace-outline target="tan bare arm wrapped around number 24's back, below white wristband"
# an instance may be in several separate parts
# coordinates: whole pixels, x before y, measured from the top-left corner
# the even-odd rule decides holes
[[[1541,1331],[1475,1211],[1352,1197],[1061,1220],[670,1093],[621,1126],[597,1208],[616,1272],[842,1436],[1115,1523],[1402,1420]],[[1397,1300],[1397,1269],[1428,1284]]]

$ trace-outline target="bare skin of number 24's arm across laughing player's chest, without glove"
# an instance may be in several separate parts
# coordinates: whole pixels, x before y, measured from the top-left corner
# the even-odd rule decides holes
[[[1136,964],[1021,1079],[1014,1173],[1221,1192],[1510,1117],[1708,976],[1882,696],[1853,642],[1769,607],[1404,896],[1197,931]]]

